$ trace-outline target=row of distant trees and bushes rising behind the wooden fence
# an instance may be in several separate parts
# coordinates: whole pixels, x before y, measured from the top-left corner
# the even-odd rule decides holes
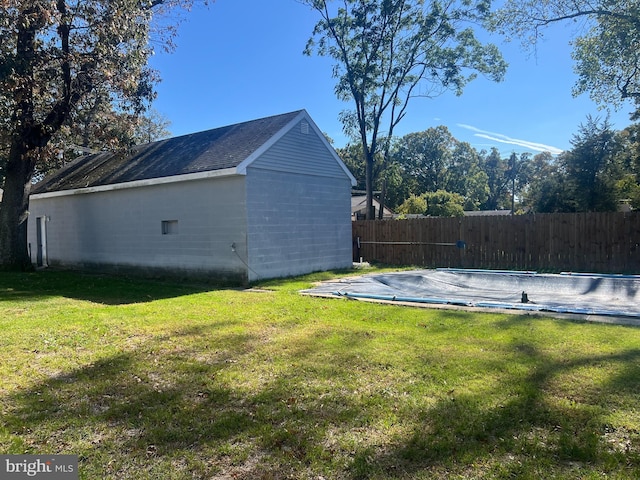
[[[444,126],[390,142],[389,160],[374,162],[375,190],[397,213],[460,216],[465,210],[514,213],[606,212],[621,202],[640,208],[640,124],[622,131],[587,117],[571,149],[554,156],[476,150]],[[365,188],[359,144],[338,153]],[[384,167],[384,168],[383,168]]]

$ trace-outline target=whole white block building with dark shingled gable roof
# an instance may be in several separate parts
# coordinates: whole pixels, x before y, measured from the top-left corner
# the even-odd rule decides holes
[[[81,157],[32,191],[31,258],[245,283],[349,267],[352,185],[304,110]]]

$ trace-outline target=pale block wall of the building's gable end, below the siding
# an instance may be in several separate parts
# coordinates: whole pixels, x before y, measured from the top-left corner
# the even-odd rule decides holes
[[[249,278],[351,266],[351,184],[344,179],[250,168]]]

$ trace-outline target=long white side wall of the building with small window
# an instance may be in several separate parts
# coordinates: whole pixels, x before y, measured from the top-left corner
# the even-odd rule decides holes
[[[32,260],[35,263],[37,253],[36,219],[46,216],[51,265],[143,267],[151,272],[211,273],[246,280],[244,180],[232,176],[32,196],[28,232]],[[177,232],[163,234],[163,221],[177,221]]]

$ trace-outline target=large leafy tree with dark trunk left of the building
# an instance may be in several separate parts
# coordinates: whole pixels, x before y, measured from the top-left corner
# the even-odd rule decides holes
[[[139,115],[153,98],[154,17],[190,0],[0,0],[0,268],[31,267],[27,216],[32,178],[58,154],[52,141],[83,114]],[[172,28],[156,30],[170,44]],[[104,108],[109,105],[109,108]],[[86,109],[84,110],[86,113]]]

